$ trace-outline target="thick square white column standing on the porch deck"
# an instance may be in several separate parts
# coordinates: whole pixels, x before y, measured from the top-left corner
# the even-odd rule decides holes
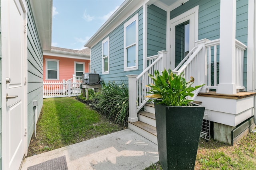
[[[236,0],[220,0],[220,84],[217,93],[236,94]]]

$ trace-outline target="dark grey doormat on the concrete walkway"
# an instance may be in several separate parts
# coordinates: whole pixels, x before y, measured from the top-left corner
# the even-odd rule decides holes
[[[40,164],[30,166],[27,170],[68,170],[66,156],[60,156]]]

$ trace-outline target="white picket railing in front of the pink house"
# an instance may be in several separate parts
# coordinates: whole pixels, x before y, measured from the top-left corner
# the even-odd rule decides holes
[[[43,82],[43,98],[78,96],[81,94],[80,84],[82,77],[76,77],[75,74],[69,80]]]

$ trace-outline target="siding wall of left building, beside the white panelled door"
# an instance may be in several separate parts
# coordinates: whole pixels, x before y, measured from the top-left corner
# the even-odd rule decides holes
[[[27,2],[27,33],[28,33],[28,145],[34,131],[33,101],[38,101],[37,118],[43,106],[43,51],[36,29],[36,23],[31,11],[30,2]]]

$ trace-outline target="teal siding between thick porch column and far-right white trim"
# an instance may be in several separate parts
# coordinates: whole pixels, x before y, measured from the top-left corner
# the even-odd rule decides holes
[[[236,39],[248,42],[248,0],[236,1]],[[244,86],[247,86],[247,50],[244,52]]]

